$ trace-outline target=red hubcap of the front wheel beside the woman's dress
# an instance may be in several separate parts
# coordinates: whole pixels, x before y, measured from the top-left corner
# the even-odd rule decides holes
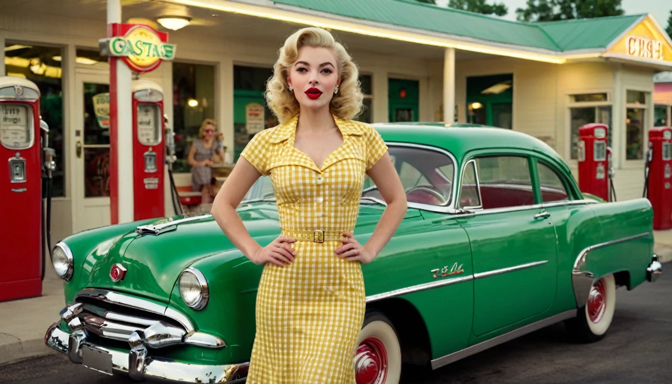
[[[360,342],[355,354],[357,384],[382,384],[387,378],[387,352],[384,344],[374,337]]]

